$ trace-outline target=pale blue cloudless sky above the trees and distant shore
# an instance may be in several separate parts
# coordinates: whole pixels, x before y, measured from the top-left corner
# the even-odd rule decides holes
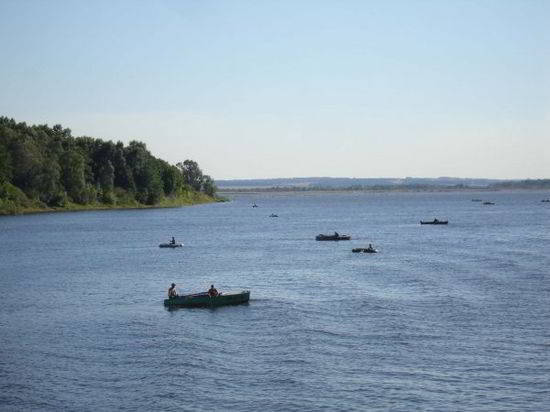
[[[0,0],[0,115],[215,179],[550,178],[547,0]]]

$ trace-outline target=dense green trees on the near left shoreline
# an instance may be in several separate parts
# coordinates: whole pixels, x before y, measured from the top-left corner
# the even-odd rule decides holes
[[[73,137],[61,125],[28,126],[0,117],[0,208],[25,203],[25,197],[22,206],[156,205],[189,192],[212,197],[216,192],[213,179],[193,160],[174,166],[154,157],[142,142],[125,146]]]

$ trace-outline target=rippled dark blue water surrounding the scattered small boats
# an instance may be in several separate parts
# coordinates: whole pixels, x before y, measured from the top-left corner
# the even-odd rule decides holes
[[[548,410],[546,197],[241,195],[0,218],[0,409]],[[450,223],[418,223],[434,217]],[[353,239],[313,240],[335,230]],[[157,247],[171,236],[185,246]],[[380,253],[351,253],[368,243]],[[251,301],[167,311],[171,282]]]

